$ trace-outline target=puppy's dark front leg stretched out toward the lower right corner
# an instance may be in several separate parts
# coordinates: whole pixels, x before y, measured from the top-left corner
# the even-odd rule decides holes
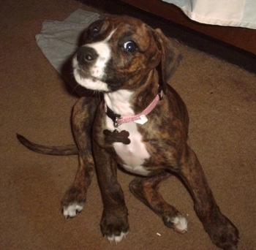
[[[191,148],[181,162],[184,179],[195,200],[195,211],[211,240],[222,249],[236,249],[238,230],[220,211],[208,186],[200,162]]]

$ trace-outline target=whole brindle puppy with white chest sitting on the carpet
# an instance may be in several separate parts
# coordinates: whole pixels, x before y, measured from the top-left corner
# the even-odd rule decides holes
[[[159,194],[159,184],[176,173],[195,201],[195,211],[211,240],[233,249],[238,230],[220,211],[194,151],[189,147],[187,109],[169,82],[180,56],[159,29],[135,18],[111,16],[92,23],[73,58],[77,82],[104,96],[82,97],[72,112],[76,145],[45,147],[18,135],[43,154],[78,154],[74,183],[64,195],[64,216],[83,209],[97,169],[104,210],[101,230],[120,241],[129,231],[117,166],[137,175],[129,188],[167,227],[187,231],[187,219]]]

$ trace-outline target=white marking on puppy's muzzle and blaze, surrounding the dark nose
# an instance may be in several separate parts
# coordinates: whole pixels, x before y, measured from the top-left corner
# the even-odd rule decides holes
[[[80,69],[77,58],[73,59],[72,64],[75,80],[80,86],[97,91],[109,90],[108,84],[104,83],[103,80],[107,74],[107,72],[105,72],[106,66],[111,58],[111,49],[108,42],[114,32],[115,31],[112,31],[109,36],[101,42],[85,45],[86,47],[93,48],[98,55],[96,61],[92,62],[93,66],[90,68],[89,72],[83,72],[83,74],[80,75],[80,71],[83,69]],[[86,75],[86,77],[84,75]]]

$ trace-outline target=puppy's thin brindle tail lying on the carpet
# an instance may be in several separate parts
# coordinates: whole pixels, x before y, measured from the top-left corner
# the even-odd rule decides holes
[[[22,135],[17,134],[17,138],[21,144],[29,148],[31,151],[39,154],[50,154],[54,156],[70,156],[78,154],[78,147],[74,145],[63,145],[63,146],[45,146],[36,143],[31,143],[28,139]]]

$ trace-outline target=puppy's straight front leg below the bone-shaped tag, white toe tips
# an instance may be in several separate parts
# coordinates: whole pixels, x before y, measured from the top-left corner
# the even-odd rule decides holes
[[[107,236],[110,241],[119,242],[127,235],[129,224],[124,193],[116,178],[117,164],[96,143],[94,143],[94,156],[103,202],[100,223],[102,235]]]

